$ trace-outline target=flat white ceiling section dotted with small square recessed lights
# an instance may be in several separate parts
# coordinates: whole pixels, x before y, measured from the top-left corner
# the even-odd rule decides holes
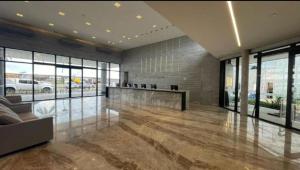
[[[119,49],[130,49],[184,35],[142,1],[120,2],[120,8],[116,8],[114,3],[113,1],[1,1],[0,17]],[[59,11],[64,12],[65,16],[58,15]],[[17,17],[17,12],[24,17]],[[143,19],[138,20],[137,15],[141,15]],[[54,24],[53,27],[48,25],[50,22]],[[86,22],[92,25],[87,26]],[[157,27],[153,28],[153,25]],[[107,33],[106,29],[110,29],[111,32]],[[74,34],[74,30],[78,31],[78,34]],[[131,39],[124,39],[123,35]],[[139,37],[135,38],[135,35]],[[96,39],[92,39],[93,36]],[[108,41],[115,44],[109,44]]]

